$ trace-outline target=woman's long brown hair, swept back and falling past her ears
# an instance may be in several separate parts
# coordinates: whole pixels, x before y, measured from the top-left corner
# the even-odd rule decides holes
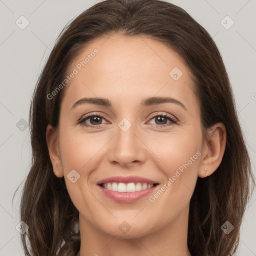
[[[54,175],[47,149],[48,123],[58,126],[65,87],[47,97],[65,78],[73,59],[91,40],[114,32],[144,35],[175,50],[192,72],[202,130],[224,123],[226,148],[215,172],[197,179],[190,200],[187,245],[192,255],[226,256],[236,251],[239,229],[255,184],[221,55],[207,31],[186,11],[160,0],[105,0],[83,11],[61,31],[38,78],[29,111],[32,162],[25,180],[20,216],[25,255],[76,255],[80,247],[78,211],[64,178]],[[229,221],[227,235],[220,226]]]

